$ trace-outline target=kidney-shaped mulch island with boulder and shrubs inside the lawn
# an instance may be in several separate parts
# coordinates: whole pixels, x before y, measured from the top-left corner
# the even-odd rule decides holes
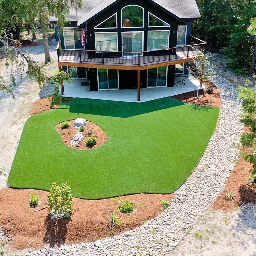
[[[70,145],[70,140],[76,135],[77,133],[77,128],[74,127],[74,121],[75,120],[68,120],[68,122],[70,123],[70,127],[67,129],[60,129],[60,126],[62,123],[58,124],[56,126],[56,130],[60,133],[63,142],[69,147],[69,148],[74,148]],[[88,135],[88,131],[91,131],[92,134]],[[79,130],[78,130],[79,131]],[[81,132],[82,135],[84,136],[84,140],[82,140],[79,144],[77,144],[75,146],[76,149],[92,149],[92,148],[98,148],[101,145],[103,145],[106,140],[107,140],[107,135],[106,133],[102,130],[102,128],[100,128],[99,125],[94,124],[90,121],[86,121],[86,126],[84,128],[84,132]],[[88,147],[84,144],[85,140],[89,137],[95,137],[97,142],[94,146],[92,147]]]

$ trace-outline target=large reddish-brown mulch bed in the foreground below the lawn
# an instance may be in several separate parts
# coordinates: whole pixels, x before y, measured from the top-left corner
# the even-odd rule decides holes
[[[32,193],[43,200],[36,208],[29,207]],[[0,222],[5,225],[4,231],[13,235],[12,250],[92,242],[107,237],[107,215],[110,210],[116,210],[118,203],[125,198],[135,203],[135,210],[130,214],[118,212],[120,226],[115,228],[114,235],[140,227],[143,221],[151,220],[163,211],[160,204],[163,199],[172,200],[174,196],[137,194],[102,200],[73,198],[71,217],[52,220],[47,208],[33,212],[46,206],[47,194],[35,189],[3,188],[0,191]]]

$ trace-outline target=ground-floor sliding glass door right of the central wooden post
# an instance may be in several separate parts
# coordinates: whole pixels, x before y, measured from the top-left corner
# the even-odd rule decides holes
[[[163,87],[167,83],[167,67],[148,69],[147,87]]]

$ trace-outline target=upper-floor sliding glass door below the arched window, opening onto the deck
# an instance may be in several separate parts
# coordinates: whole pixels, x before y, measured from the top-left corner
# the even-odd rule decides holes
[[[122,32],[123,56],[136,57],[138,54],[131,52],[143,51],[143,32]]]

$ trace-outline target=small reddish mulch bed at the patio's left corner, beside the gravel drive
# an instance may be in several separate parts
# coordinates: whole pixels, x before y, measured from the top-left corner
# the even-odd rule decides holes
[[[73,100],[74,98],[68,98],[68,97],[63,97],[62,99],[62,103],[67,103],[70,100]],[[31,108],[31,115],[34,116],[36,114],[40,114],[46,111],[49,111],[53,108],[58,108],[60,106],[59,103],[55,103],[53,105],[53,107],[51,108],[51,102],[52,102],[52,97],[47,97],[47,98],[43,98],[40,100],[37,100],[35,102],[35,104],[33,105],[33,107]]]

